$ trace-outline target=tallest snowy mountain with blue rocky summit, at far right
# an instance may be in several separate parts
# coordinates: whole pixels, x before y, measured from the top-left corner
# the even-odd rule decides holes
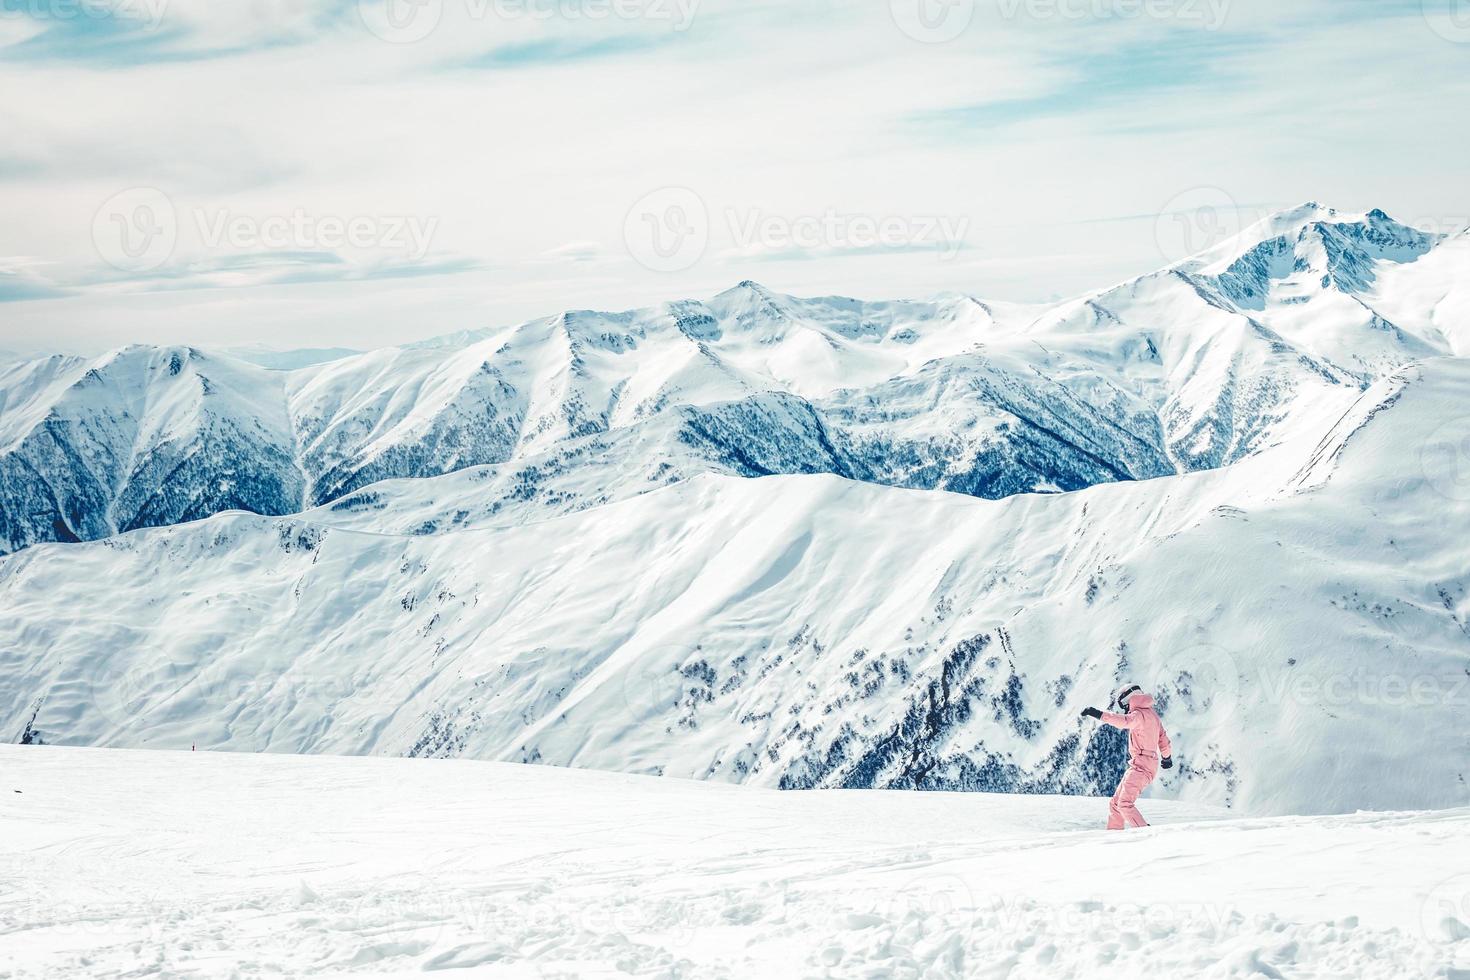
[[[1429,278],[1470,275],[1470,253],[1452,241],[1382,212],[1305,204],[1047,311],[1028,331],[1053,350],[1119,363],[1152,391],[1180,470],[1225,466],[1282,438],[1301,413],[1341,411],[1354,386],[1457,353],[1442,329],[1424,329],[1441,303],[1419,282],[1426,256],[1439,266]]]

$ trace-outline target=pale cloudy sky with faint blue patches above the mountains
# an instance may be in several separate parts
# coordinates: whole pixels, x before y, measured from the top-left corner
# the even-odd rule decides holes
[[[0,350],[1051,301],[1470,225],[1470,0],[0,0]]]

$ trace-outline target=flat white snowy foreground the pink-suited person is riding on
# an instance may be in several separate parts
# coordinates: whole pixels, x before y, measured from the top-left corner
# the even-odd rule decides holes
[[[1470,810],[1142,808],[6,745],[0,977],[1470,971]]]

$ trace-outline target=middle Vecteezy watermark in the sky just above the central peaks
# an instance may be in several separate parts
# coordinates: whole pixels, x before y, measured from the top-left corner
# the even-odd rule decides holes
[[[861,215],[826,210],[778,215],[761,209],[726,209],[723,229],[729,254],[744,259],[933,251],[954,259],[969,237],[961,215]],[[670,187],[644,195],[628,212],[623,242],[639,264],[653,272],[692,269],[711,238],[709,207],[698,194]]]

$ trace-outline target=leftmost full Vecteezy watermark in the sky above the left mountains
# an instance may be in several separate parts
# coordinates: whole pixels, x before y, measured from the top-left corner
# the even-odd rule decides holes
[[[162,267],[193,225],[206,250],[315,251],[375,250],[422,260],[438,231],[438,217],[419,215],[315,215],[303,207],[279,215],[245,215],[228,207],[194,207],[184,216],[154,187],[122,191],[93,216],[93,244],[103,262],[122,272]]]

